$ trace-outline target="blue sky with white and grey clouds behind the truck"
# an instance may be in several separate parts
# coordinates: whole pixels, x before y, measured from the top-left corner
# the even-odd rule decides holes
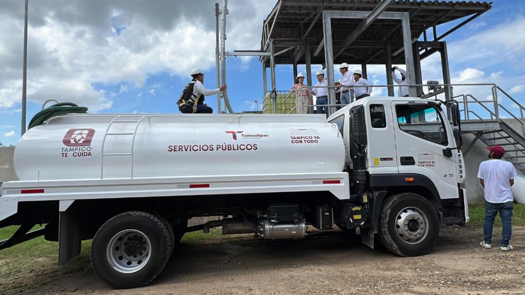
[[[191,69],[201,68],[205,87],[215,88],[215,2],[29,0],[27,122],[48,99],[99,113],[176,113]],[[275,2],[230,0],[227,50],[259,49],[262,21]],[[488,13],[446,38],[450,75],[457,83],[497,83],[525,104],[525,2],[494,2]],[[0,142],[16,144],[23,0],[0,0],[0,28]],[[230,57],[227,70],[234,110],[255,110],[254,100],[260,103],[262,96],[258,59]],[[278,89],[289,89],[291,72],[288,66],[277,68]],[[438,55],[423,61],[423,81],[442,80],[440,72]],[[369,80],[385,84],[384,66],[371,66]],[[456,88],[454,93],[486,98],[490,88]],[[500,102],[519,114],[510,100]],[[215,97],[207,103],[216,109]]]

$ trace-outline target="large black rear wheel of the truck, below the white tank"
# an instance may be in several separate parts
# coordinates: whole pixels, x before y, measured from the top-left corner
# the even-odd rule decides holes
[[[126,212],[109,219],[95,234],[91,266],[95,274],[113,288],[141,287],[164,269],[172,248],[170,230],[161,219],[150,213]],[[142,249],[145,250],[139,252]],[[138,258],[144,262],[130,261],[137,257],[134,254],[140,255]]]

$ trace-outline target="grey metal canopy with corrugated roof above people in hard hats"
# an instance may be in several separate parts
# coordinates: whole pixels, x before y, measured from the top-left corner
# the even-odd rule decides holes
[[[307,85],[312,86],[311,65],[385,65],[387,85],[393,85],[392,64],[404,64],[411,96],[423,93],[421,60],[439,52],[442,61],[445,98],[453,97],[446,42],[442,39],[487,12],[490,2],[408,0],[279,0],[264,21],[258,56],[267,92],[266,69],[270,68],[271,89],[276,90],[276,65],[306,65]],[[463,19],[444,34],[436,27]],[[432,38],[427,36],[432,29]],[[420,40],[423,36],[423,40]],[[329,50],[325,50],[329,48]],[[256,54],[254,54],[256,55]],[[327,81],[334,77],[327,71]],[[394,88],[388,87],[388,96]],[[334,91],[328,91],[334,105]],[[329,113],[335,110],[330,108]]]

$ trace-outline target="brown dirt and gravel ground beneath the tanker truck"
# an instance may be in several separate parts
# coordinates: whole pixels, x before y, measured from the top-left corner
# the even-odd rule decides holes
[[[21,293],[525,294],[525,227],[513,228],[511,252],[500,251],[497,239],[497,247],[481,248],[481,236],[479,227],[442,228],[431,254],[409,258],[354,243],[341,231],[286,241],[225,236],[178,245],[161,276],[143,288],[112,290],[89,269],[52,285],[28,280]]]

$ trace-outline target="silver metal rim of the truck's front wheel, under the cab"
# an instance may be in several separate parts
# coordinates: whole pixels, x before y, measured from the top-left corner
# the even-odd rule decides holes
[[[428,234],[428,218],[420,209],[406,207],[395,219],[397,236],[407,244],[417,244]]]

